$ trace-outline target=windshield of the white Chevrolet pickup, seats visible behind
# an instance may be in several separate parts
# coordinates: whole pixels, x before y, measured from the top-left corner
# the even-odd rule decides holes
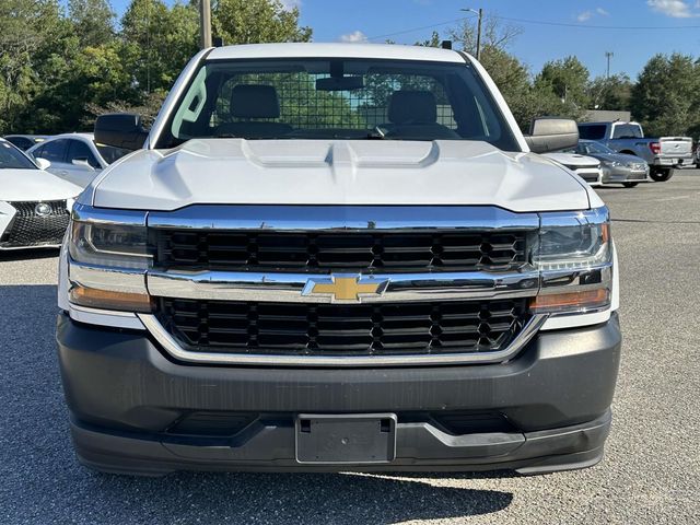
[[[171,114],[156,148],[192,138],[443,139],[520,150],[466,62],[210,61]]]

